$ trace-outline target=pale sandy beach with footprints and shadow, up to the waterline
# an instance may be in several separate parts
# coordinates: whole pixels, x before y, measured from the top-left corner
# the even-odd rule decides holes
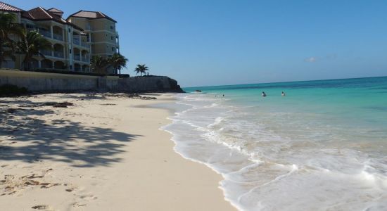
[[[0,210],[235,210],[219,174],[173,151],[167,110],[138,107],[173,100],[152,96],[1,98]]]

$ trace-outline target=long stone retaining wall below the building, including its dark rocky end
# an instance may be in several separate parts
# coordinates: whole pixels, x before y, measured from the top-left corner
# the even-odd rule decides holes
[[[175,79],[166,76],[128,77],[71,75],[51,72],[1,70],[0,85],[13,84],[29,91],[175,91],[181,92]]]

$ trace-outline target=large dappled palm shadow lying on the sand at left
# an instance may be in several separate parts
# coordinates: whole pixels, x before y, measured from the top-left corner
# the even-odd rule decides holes
[[[25,101],[20,104],[25,104]],[[34,115],[53,114],[51,108],[35,110],[20,106],[13,113],[8,113],[6,106],[0,107],[0,162],[55,160],[75,167],[108,166],[120,161],[115,155],[123,153],[125,142],[137,136],[112,129],[85,127],[71,120],[53,120],[46,124]]]

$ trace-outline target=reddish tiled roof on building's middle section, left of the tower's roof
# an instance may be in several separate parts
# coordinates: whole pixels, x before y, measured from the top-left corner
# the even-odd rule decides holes
[[[22,17],[30,19],[30,20],[35,20],[35,21],[53,20],[53,21],[56,21],[58,23],[72,25],[72,27],[75,27],[77,30],[83,31],[83,29],[81,27],[78,27],[77,25],[74,25],[74,24],[68,22],[67,20],[64,20],[63,18],[61,18],[61,15],[58,15],[58,14],[51,12],[51,11],[47,11],[46,9],[44,9],[40,6],[37,8],[33,8],[29,11],[23,11]]]

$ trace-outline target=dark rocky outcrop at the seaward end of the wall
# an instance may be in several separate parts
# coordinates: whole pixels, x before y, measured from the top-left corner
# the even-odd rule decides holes
[[[118,91],[184,92],[175,79],[166,76],[127,77],[118,79]]]

